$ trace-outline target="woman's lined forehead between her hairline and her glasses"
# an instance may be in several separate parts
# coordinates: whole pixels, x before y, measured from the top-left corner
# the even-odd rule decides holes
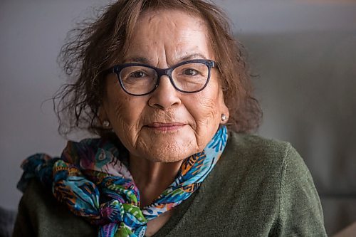
[[[124,60],[132,56],[179,60],[189,54],[214,59],[209,31],[199,16],[180,10],[146,11],[137,19]]]

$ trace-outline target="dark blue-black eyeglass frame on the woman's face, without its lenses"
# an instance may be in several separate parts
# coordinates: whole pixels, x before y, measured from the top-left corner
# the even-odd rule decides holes
[[[178,68],[179,66],[184,65],[184,64],[188,64],[188,63],[202,63],[202,64],[204,64],[204,65],[206,65],[208,67],[208,78],[206,79],[206,83],[204,84],[204,86],[199,90],[184,91],[184,90],[180,90],[179,88],[177,88],[177,85],[174,84],[174,81],[173,81],[173,78],[172,78],[172,71],[175,68]],[[130,93],[125,89],[125,86],[123,85],[122,80],[120,78],[120,72],[121,72],[122,69],[130,67],[130,66],[145,66],[147,68],[152,68],[153,70],[156,71],[156,73],[157,73],[157,82],[156,82],[155,87],[152,90],[150,90],[150,92],[137,95],[137,94]],[[156,68],[156,67],[154,67],[152,65],[147,65],[147,64],[144,64],[144,63],[123,63],[123,64],[119,64],[119,65],[114,65],[111,68],[108,68],[107,70],[104,70],[103,71],[103,73],[104,73],[103,75],[106,76],[108,74],[115,73],[117,75],[117,79],[120,82],[120,86],[121,86],[122,90],[124,90],[125,93],[127,93],[129,95],[133,95],[133,96],[143,96],[143,95],[148,95],[148,94],[154,92],[157,89],[158,85],[159,85],[159,81],[160,81],[162,75],[167,75],[169,80],[170,80],[170,82],[172,83],[173,87],[176,90],[178,90],[179,92],[181,92],[181,93],[198,93],[199,91],[204,90],[204,88],[206,88],[206,85],[208,85],[209,80],[210,80],[210,75],[211,75],[211,68],[214,68],[214,67],[216,67],[216,62],[214,60],[209,60],[209,59],[187,60],[187,61],[183,61],[181,63],[177,63],[176,65],[173,65],[171,68]]]

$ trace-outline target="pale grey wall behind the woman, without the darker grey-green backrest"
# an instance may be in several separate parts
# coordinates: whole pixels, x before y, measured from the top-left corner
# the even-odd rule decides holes
[[[0,206],[16,209],[19,165],[28,155],[61,154],[51,98],[65,81],[56,63],[66,32],[95,0],[0,0]],[[220,0],[238,33],[356,31],[352,1]]]

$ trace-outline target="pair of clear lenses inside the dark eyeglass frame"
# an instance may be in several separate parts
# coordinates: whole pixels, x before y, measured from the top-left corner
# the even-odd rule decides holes
[[[200,90],[209,77],[209,67],[204,63],[186,63],[172,71],[174,86],[184,92]],[[152,91],[158,80],[157,72],[146,66],[132,65],[122,68],[120,80],[128,93],[142,95]]]

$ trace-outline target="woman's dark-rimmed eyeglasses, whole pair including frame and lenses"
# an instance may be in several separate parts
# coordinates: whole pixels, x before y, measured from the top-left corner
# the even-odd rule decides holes
[[[114,65],[104,75],[115,73],[122,89],[130,95],[148,95],[159,85],[162,75],[167,75],[174,88],[182,93],[197,93],[209,83],[214,60],[195,59],[178,63],[172,68],[155,68],[142,63]]]

